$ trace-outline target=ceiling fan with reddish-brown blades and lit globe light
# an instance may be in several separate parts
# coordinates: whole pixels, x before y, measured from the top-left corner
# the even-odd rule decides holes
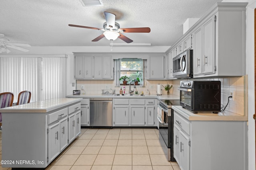
[[[95,27],[87,27],[87,26],[82,26],[82,25],[73,25],[73,24],[68,24],[71,27],[81,27],[81,28],[89,28],[89,29],[98,29],[101,31],[104,31],[102,35],[96,37],[92,41],[99,41],[103,37],[106,37],[106,39],[113,41],[117,38],[122,39],[126,43],[131,43],[132,40],[126,36],[124,36],[121,33],[149,33],[150,28],[149,27],[138,27],[138,28],[120,28],[119,23],[117,23],[116,20],[116,15],[112,14],[110,12],[104,12],[106,22],[103,24],[103,29],[102,28],[95,28]]]

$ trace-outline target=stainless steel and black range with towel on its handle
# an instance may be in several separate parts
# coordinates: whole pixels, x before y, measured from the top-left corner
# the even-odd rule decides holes
[[[180,100],[160,100],[159,106],[164,112],[163,123],[159,122],[159,132],[164,139],[168,149],[168,161],[175,161],[173,157],[173,109],[172,106],[179,106]]]

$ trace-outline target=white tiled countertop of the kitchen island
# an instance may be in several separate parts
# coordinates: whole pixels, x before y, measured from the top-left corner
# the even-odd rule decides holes
[[[11,107],[1,108],[1,113],[46,113],[58,109],[69,104],[80,102],[82,98],[55,98],[42,100],[28,104],[16,105]]]

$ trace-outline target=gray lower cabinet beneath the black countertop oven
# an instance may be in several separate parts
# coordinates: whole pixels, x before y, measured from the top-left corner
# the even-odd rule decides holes
[[[181,170],[248,170],[247,121],[190,121],[173,109],[174,158]]]

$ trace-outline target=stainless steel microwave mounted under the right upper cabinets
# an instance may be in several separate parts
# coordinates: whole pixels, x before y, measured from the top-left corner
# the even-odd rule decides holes
[[[186,50],[173,58],[173,76],[176,78],[193,77],[193,50]]]

